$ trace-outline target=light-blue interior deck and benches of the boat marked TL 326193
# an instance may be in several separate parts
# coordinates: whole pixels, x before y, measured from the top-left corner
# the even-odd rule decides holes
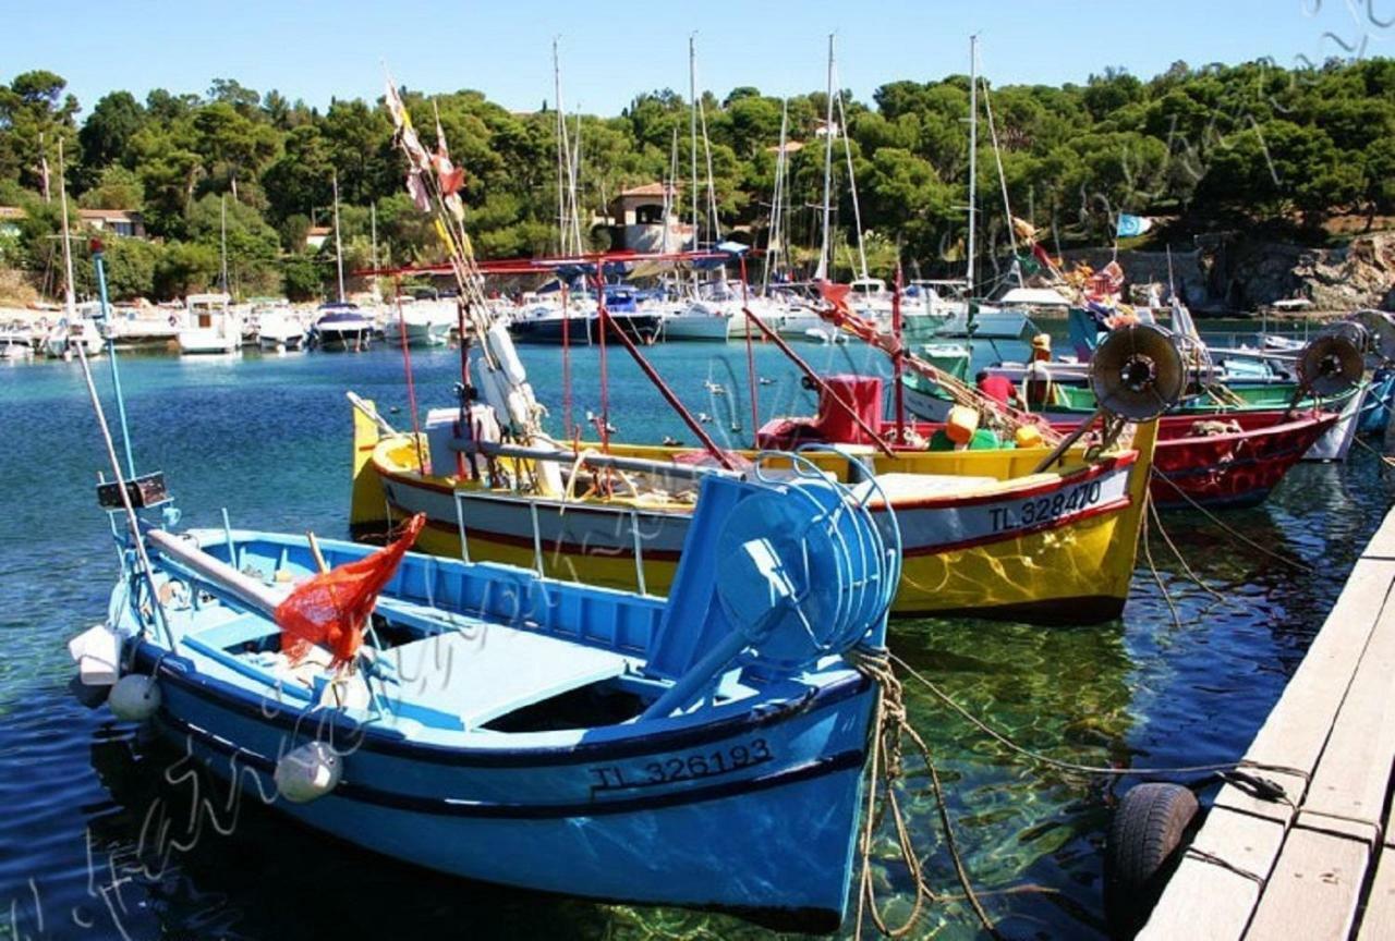
[[[710,512],[689,533],[671,604],[554,581],[512,566],[407,553],[365,632],[353,671],[357,690],[336,686],[326,693],[332,680],[343,683],[343,675],[335,679],[329,669],[328,651],[312,648],[292,662],[271,618],[247,611],[173,558],[162,559],[162,576],[184,586],[162,592],[187,599],[173,605],[172,615],[181,652],[202,658],[226,682],[244,690],[275,690],[283,701],[306,708],[329,701],[357,705],[406,733],[416,726],[452,733],[619,725],[672,696],[679,680],[692,682],[693,673],[702,682],[681,703],[679,714],[759,696],[798,697],[810,686],[845,678],[845,661],[822,651],[792,669],[737,657],[745,643],[741,626],[720,604],[718,580],[731,574],[720,570],[717,540],[737,503],[762,488],[734,481],[710,487],[703,496]],[[236,530],[193,535],[205,553],[276,594],[289,594],[318,572],[301,537]],[[318,545],[331,567],[372,552],[352,542]],[[868,627],[872,643],[880,644],[877,632],[884,626],[864,625],[862,630]],[[730,647],[725,659],[720,655],[724,645]],[[340,698],[326,700],[326,694]]]

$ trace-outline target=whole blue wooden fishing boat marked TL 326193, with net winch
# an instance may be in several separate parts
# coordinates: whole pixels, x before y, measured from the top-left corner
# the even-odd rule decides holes
[[[409,553],[347,675],[293,664],[271,612],[317,545],[329,566],[371,546],[142,521],[148,574],[119,537],[113,711],[386,856],[834,930],[877,697],[857,661],[900,546],[889,514],[767,460],[783,477],[703,481],[667,602]]]

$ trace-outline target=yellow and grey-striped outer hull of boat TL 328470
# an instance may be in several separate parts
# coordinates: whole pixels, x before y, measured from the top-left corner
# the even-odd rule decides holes
[[[399,520],[427,514],[417,542],[425,552],[462,558],[463,530],[472,560],[536,567],[589,584],[668,591],[691,507],[562,503],[456,488],[442,478],[393,468],[371,445],[359,446],[372,456],[359,467],[364,481],[353,514],[359,537],[382,528],[374,516],[381,517],[386,505]],[[1144,447],[1151,460],[1151,439]],[[935,495],[908,480],[907,494],[891,496],[904,546],[894,615],[972,613],[1038,623],[1119,616],[1133,577],[1149,460],[1124,452],[1076,473],[1034,475],[1023,485],[988,487],[968,498],[960,495],[964,487],[954,485],[953,474],[944,475],[953,468],[979,477],[992,468],[1025,477],[1039,459],[1028,450],[918,452],[879,463],[879,471],[926,484],[933,475],[925,467],[937,467],[940,487],[958,491]]]

